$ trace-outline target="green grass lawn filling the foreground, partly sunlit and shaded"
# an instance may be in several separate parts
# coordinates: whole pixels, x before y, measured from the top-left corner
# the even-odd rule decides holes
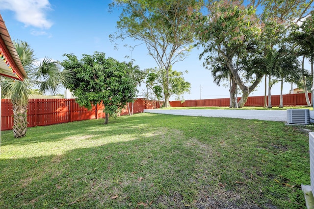
[[[0,208],[305,208],[304,127],[156,114],[103,123],[3,131]]]

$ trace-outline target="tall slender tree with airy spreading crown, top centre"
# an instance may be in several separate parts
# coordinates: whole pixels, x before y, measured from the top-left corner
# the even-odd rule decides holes
[[[195,17],[203,0],[114,0],[110,5],[123,8],[117,22],[119,32],[111,38],[131,37],[146,45],[158,69],[165,71],[162,88],[164,106],[168,107],[169,70],[192,48]]]

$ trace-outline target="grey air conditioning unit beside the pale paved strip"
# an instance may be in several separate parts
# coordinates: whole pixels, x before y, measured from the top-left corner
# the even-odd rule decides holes
[[[310,124],[310,110],[309,109],[288,109],[287,122],[294,124]]]

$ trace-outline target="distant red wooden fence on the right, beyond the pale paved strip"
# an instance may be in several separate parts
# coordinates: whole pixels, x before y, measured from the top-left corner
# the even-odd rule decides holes
[[[309,93],[309,98],[311,100],[311,93]],[[241,97],[238,98],[238,101]],[[271,105],[279,106],[280,95],[271,96]],[[268,102],[268,96],[267,96]],[[307,105],[305,100],[304,93],[294,93],[294,94],[285,94],[283,95],[283,104],[284,106],[304,106]],[[230,99],[222,98],[222,99],[199,99],[199,100],[185,100],[183,103],[181,101],[171,101],[170,105],[172,107],[229,107]],[[250,96],[247,99],[247,102],[244,106],[256,106],[262,107],[264,106],[264,96]]]

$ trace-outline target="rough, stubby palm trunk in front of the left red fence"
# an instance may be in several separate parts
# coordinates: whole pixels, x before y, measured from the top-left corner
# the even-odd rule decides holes
[[[27,131],[27,105],[12,100],[13,106],[13,134],[15,138],[25,137]]]

